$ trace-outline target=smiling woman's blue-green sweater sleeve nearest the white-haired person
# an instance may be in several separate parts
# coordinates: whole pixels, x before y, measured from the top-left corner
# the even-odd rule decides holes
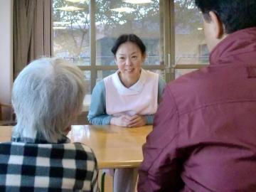
[[[106,89],[103,80],[97,82],[92,90],[87,118],[90,124],[110,124],[111,115],[106,112]]]

